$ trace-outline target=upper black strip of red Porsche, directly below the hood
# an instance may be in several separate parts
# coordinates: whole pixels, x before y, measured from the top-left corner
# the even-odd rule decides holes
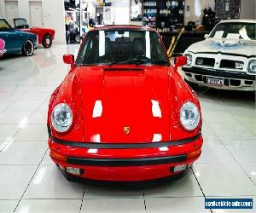
[[[99,148],[99,149],[129,149],[129,148],[154,148],[154,147],[170,147],[183,145],[189,142],[196,141],[201,137],[201,133],[193,137],[185,138],[177,141],[160,141],[148,143],[96,143],[96,142],[77,142],[77,141],[64,141],[53,136],[50,136],[55,143],[67,147],[79,148]]]

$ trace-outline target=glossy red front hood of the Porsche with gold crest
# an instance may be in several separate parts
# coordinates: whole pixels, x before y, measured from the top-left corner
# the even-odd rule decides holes
[[[84,141],[168,141],[169,68],[79,67]]]

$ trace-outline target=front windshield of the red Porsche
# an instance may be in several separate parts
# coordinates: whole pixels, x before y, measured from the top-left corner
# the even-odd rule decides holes
[[[88,32],[77,59],[78,66],[153,63],[169,65],[166,50],[155,32],[104,30]]]

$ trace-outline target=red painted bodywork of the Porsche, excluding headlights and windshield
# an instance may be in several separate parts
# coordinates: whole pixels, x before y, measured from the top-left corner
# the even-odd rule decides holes
[[[105,28],[108,27],[101,29]],[[63,170],[67,166],[84,170],[79,177],[92,180],[145,181],[177,175],[179,172],[171,169],[179,164],[192,164],[199,158],[203,142],[201,121],[193,131],[184,130],[180,124],[180,108],[186,101],[195,103],[201,110],[195,92],[172,66],[72,66],[49,101],[50,152],[82,160],[139,160],[180,155],[184,159],[132,166],[73,164],[52,159]],[[73,124],[65,133],[58,133],[51,124],[51,113],[59,103],[67,103],[73,112]],[[100,112],[95,113],[99,106]],[[129,134],[124,132],[125,126],[130,127]],[[110,147],[94,147],[104,144]],[[148,144],[153,147],[147,147]],[[116,145],[126,147],[113,148]],[[190,158],[189,153],[195,152]]]

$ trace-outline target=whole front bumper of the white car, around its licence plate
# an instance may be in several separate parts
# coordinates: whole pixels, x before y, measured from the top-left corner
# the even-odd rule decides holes
[[[256,90],[256,75],[248,75],[246,72],[230,72],[203,67],[183,67],[184,78],[192,83],[217,89],[232,90]],[[223,86],[215,86],[207,83],[208,77],[224,78]]]

